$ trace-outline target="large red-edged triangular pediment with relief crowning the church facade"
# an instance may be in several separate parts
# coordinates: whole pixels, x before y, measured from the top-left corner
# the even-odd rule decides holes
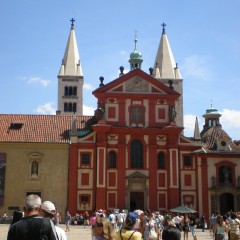
[[[112,82],[99,87],[93,92],[94,95],[97,95],[98,93],[179,95],[179,93],[141,69],[134,69]]]

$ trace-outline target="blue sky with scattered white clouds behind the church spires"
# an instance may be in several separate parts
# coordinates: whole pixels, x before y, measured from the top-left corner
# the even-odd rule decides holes
[[[21,0],[0,3],[0,113],[55,114],[57,74],[70,32],[75,33],[84,74],[84,114],[92,115],[92,91],[119,67],[129,69],[138,49],[142,69],[152,67],[166,33],[183,77],[185,135],[200,130],[207,108],[222,114],[223,129],[240,139],[240,1],[231,0]]]

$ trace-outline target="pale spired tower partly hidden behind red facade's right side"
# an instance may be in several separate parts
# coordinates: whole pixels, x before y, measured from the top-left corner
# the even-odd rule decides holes
[[[183,127],[183,79],[175,62],[166,32],[166,24],[162,24],[162,36],[159,43],[157,56],[154,63],[154,75],[160,82],[172,86],[175,91],[181,94],[176,102],[175,111],[177,126]]]

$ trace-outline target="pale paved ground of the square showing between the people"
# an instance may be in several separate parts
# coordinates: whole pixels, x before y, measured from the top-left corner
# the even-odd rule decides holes
[[[62,229],[65,229],[65,225],[59,225]],[[8,224],[0,224],[0,240],[7,239],[7,232],[8,232],[9,225]],[[67,232],[67,239],[68,240],[91,240],[91,229],[90,228],[83,228],[80,226],[71,226],[70,232]],[[183,240],[183,235],[182,238]],[[212,236],[209,230],[205,230],[202,232],[201,229],[197,229],[197,239],[198,240],[212,240]],[[188,240],[193,240],[191,232],[188,234]]]

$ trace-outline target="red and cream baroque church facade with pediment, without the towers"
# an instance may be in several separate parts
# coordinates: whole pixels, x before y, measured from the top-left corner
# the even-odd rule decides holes
[[[89,135],[72,141],[69,209],[196,207],[190,153],[199,147],[174,121],[179,93],[136,68],[93,94],[103,116]]]

